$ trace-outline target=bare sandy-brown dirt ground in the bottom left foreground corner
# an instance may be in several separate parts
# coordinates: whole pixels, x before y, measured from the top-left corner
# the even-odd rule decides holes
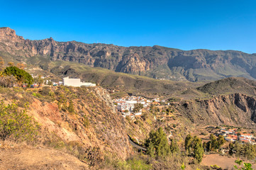
[[[0,148],[0,169],[89,169],[76,157],[47,148]]]

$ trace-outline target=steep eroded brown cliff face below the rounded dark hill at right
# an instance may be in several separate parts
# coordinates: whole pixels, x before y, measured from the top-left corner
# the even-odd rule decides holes
[[[235,125],[255,128],[256,98],[243,94],[216,96],[206,100],[183,101],[177,111],[196,125]]]

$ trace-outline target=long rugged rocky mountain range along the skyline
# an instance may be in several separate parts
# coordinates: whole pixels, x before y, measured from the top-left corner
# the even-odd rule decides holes
[[[25,40],[11,28],[0,28],[0,55],[33,64],[40,60],[79,62],[115,72],[155,79],[207,81],[225,77],[256,79],[256,54],[233,50],[178,50],[168,47],[121,47],[101,43]],[[43,67],[43,66],[41,66]],[[45,67],[45,69],[48,69]]]

